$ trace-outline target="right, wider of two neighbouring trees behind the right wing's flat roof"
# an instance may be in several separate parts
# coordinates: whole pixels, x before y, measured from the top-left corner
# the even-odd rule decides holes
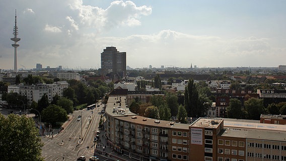
[[[263,106],[263,99],[250,98],[245,101],[244,106],[248,112],[248,119],[260,120],[260,115],[267,113],[266,108]]]

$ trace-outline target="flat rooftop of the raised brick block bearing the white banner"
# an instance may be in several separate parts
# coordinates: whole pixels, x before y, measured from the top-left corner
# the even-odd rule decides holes
[[[205,127],[205,128],[217,128],[223,119],[219,118],[198,118],[195,122],[193,122],[191,127]]]

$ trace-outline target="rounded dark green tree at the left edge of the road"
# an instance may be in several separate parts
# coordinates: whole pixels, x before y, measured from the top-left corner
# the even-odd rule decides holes
[[[41,114],[42,119],[47,123],[51,123],[53,126],[55,126],[56,122],[64,122],[67,120],[66,111],[57,105],[49,105]]]

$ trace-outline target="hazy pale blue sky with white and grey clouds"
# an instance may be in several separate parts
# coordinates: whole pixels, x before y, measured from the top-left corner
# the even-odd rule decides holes
[[[286,1],[1,0],[0,68],[98,69],[107,46],[127,65],[276,67],[286,65]]]

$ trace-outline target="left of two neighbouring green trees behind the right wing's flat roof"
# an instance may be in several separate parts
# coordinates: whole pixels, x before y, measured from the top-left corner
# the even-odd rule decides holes
[[[242,118],[242,106],[241,101],[238,99],[231,99],[230,106],[227,107],[228,118],[241,119]]]

